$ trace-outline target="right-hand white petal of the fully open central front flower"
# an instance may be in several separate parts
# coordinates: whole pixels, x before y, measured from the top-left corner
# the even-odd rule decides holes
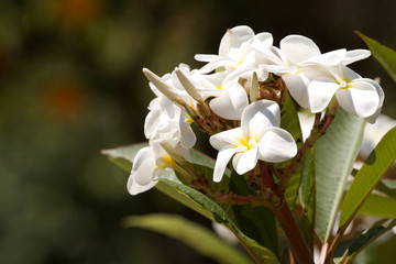
[[[292,134],[280,128],[267,128],[258,142],[260,160],[279,163],[297,154],[297,145]]]

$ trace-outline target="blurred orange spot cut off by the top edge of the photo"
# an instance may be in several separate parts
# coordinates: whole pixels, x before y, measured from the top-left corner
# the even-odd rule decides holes
[[[102,0],[61,0],[59,19],[68,26],[84,28],[99,16],[102,6]]]

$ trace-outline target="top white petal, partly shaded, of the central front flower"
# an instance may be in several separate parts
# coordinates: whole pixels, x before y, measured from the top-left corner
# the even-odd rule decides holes
[[[263,99],[252,102],[242,113],[241,128],[245,139],[260,139],[265,128],[279,125],[280,109],[275,101]]]

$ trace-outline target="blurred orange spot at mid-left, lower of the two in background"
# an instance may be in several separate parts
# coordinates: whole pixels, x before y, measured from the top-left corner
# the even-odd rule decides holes
[[[84,110],[85,95],[80,81],[72,78],[50,80],[44,86],[46,111],[57,120],[73,120]]]

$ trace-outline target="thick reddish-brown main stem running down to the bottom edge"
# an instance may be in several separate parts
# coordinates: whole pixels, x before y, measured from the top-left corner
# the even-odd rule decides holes
[[[298,228],[287,202],[284,201],[283,205],[278,209],[274,209],[273,212],[287,237],[296,262],[299,264],[314,264],[312,254],[309,252],[308,245],[304,240],[300,229]]]

